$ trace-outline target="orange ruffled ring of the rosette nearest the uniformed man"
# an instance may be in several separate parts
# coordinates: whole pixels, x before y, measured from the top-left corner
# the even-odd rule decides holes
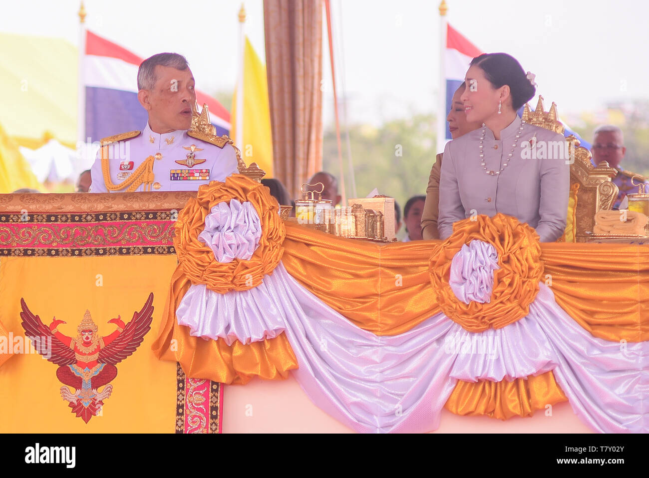
[[[259,245],[249,260],[235,258],[232,262],[217,262],[212,249],[199,241],[205,218],[212,207],[230,199],[249,201],[262,224]],[[243,175],[229,176],[225,182],[212,181],[199,188],[197,197],[190,199],[178,214],[173,244],[178,262],[193,284],[205,284],[208,289],[225,294],[231,290],[249,290],[271,274],[284,253],[286,228],[278,214],[278,203],[268,188]]]

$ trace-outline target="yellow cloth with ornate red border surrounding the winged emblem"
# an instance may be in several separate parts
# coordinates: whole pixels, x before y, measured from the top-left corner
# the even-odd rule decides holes
[[[107,196],[0,195],[0,409],[11,410],[0,433],[215,433],[221,386],[186,377],[151,351],[177,264],[174,210],[191,193]],[[80,390],[64,386],[60,363],[42,357],[54,358],[55,347],[38,353],[26,337],[21,299],[46,327],[64,321],[58,331],[71,338],[88,310],[105,337],[118,330],[109,320],[129,323],[151,293],[151,330],[116,364],[110,384],[97,387],[112,393],[86,423],[62,398]]]

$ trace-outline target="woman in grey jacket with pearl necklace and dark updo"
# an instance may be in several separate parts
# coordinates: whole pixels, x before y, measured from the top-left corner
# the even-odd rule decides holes
[[[535,94],[533,75],[506,53],[473,58],[461,96],[467,121],[483,127],[449,142],[439,184],[439,236],[453,223],[498,212],[528,223],[541,242],[566,226],[570,160],[561,134],[524,123],[517,110]]]

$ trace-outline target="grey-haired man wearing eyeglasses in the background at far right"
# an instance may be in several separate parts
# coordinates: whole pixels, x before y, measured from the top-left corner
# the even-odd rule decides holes
[[[603,125],[595,129],[593,133],[593,146],[591,147],[591,152],[593,153],[593,162],[594,164],[600,164],[602,161],[606,161],[611,168],[617,170],[617,176],[613,178],[613,182],[617,184],[620,192],[617,195],[615,204],[613,208],[617,209],[620,207],[620,203],[627,194],[633,194],[638,192],[638,186],[633,186],[631,183],[631,177],[635,173],[631,171],[623,170],[620,167],[620,162],[624,158],[624,153],[626,153],[626,147],[624,147],[624,134],[622,130],[617,126],[613,125]],[[635,180],[635,184],[639,184],[638,179]],[[644,181],[644,184],[649,186],[649,182]],[[624,201],[626,203],[626,201]],[[626,206],[626,204],[625,204]]]

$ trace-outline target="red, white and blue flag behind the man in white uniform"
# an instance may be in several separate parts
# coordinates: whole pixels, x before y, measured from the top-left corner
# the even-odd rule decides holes
[[[138,67],[142,58],[105,38],[86,31],[84,83],[86,88],[86,134],[99,141],[121,132],[141,130],[147,124],[147,111],[138,101]],[[199,108],[210,108],[210,119],[217,134],[229,134],[230,113],[221,103],[196,90]]]

